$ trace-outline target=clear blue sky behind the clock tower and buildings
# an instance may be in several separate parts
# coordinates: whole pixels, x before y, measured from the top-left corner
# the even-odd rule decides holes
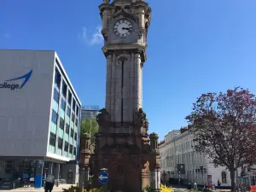
[[[0,49],[55,49],[83,104],[105,103],[102,0],[1,0]],[[255,0],[148,0],[143,108],[163,138],[187,125],[201,93],[256,93]]]

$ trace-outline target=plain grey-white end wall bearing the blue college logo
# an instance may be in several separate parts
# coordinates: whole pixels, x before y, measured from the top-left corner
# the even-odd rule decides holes
[[[46,155],[54,63],[55,51],[0,49],[0,156]]]

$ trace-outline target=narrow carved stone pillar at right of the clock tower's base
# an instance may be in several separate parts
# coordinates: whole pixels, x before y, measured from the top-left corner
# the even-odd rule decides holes
[[[152,192],[160,192],[160,151],[158,148],[158,135],[152,133],[150,138],[151,160],[150,169],[150,189]]]

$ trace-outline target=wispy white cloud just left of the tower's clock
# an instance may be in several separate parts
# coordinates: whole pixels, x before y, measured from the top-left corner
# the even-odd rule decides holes
[[[79,38],[85,43],[89,45],[94,45],[94,44],[102,44],[104,41],[104,38],[102,37],[102,27],[97,26],[96,27],[96,32],[91,34],[90,38],[88,38],[88,32],[85,27],[83,27],[82,33],[79,35]]]

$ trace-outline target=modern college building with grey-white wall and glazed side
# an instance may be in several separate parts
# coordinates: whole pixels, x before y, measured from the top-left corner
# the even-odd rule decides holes
[[[0,49],[0,188],[78,183],[80,117],[55,51]]]

